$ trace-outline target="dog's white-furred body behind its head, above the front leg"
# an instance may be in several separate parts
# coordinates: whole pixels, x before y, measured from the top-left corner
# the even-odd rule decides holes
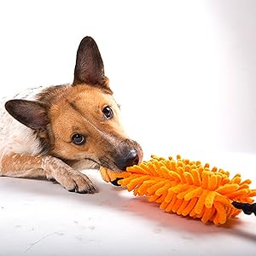
[[[10,99],[33,100],[42,87],[22,91],[11,98],[3,98],[0,102],[0,157],[8,152],[39,154],[40,142],[32,129],[14,119],[4,108]]]

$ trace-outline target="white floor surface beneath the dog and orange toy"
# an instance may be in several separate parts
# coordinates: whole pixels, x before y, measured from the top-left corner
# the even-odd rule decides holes
[[[236,167],[234,174],[240,170],[255,188],[255,156],[207,157]],[[98,171],[86,173],[96,183],[95,195],[0,177],[0,255],[256,255],[254,215],[241,213],[224,226],[202,224],[104,183]]]

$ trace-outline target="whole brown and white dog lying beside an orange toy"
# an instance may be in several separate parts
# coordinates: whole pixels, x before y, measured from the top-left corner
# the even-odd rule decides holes
[[[83,38],[73,84],[26,90],[0,109],[0,176],[47,177],[79,193],[94,184],[79,172],[105,166],[116,172],[143,157],[119,120],[96,42]]]

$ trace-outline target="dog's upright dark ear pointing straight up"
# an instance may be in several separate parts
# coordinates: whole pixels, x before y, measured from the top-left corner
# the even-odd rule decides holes
[[[101,53],[90,37],[83,38],[79,44],[74,70],[73,85],[83,83],[108,89]]]

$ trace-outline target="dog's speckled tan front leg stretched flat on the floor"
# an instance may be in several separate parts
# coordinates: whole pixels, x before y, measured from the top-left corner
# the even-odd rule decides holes
[[[0,163],[0,176],[53,177],[69,191],[79,193],[96,191],[89,177],[52,156],[16,153],[3,155]]]

